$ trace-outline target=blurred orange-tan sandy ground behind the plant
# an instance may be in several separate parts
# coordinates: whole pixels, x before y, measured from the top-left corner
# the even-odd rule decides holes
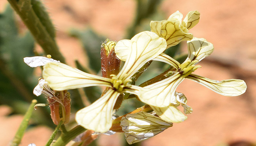
[[[3,11],[6,0],[0,0]],[[86,62],[81,44],[67,35],[70,28],[92,26],[109,39],[120,40],[133,20],[135,0],[48,0],[44,2],[57,28],[61,52],[74,66],[74,59]],[[185,80],[177,91],[188,98],[193,113],[182,123],[144,141],[143,146],[218,146],[227,142],[256,142],[256,1],[255,0],[163,0],[166,14],[179,10],[184,16],[193,10],[201,13],[194,37],[206,38],[215,50],[200,62],[196,74],[214,80],[239,78],[248,89],[244,95],[226,97]],[[103,41],[103,40],[102,40]],[[185,45],[184,45],[185,47]],[[6,117],[11,108],[0,106],[0,141],[6,146],[14,136],[22,115]],[[21,146],[45,145],[51,134],[47,127],[25,133]],[[101,136],[99,146],[118,146],[123,134]],[[111,139],[109,141],[109,139]],[[116,139],[116,140],[113,140]],[[113,142],[115,141],[115,142]]]

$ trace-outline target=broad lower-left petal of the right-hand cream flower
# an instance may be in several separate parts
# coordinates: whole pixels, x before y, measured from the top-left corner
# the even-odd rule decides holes
[[[167,107],[173,102],[176,103],[176,96],[174,94],[176,93],[177,86],[183,80],[184,78],[177,72],[169,78],[143,87],[139,91],[138,97],[148,105]]]

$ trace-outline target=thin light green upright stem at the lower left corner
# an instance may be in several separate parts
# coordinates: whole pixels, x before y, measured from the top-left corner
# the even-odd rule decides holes
[[[25,133],[25,130],[27,126],[29,125],[29,119],[31,118],[32,112],[34,111],[34,106],[37,103],[37,100],[32,100],[32,103],[29,106],[29,109],[27,110],[18,131],[15,134],[14,139],[12,140],[11,146],[18,146],[21,142],[21,139]]]

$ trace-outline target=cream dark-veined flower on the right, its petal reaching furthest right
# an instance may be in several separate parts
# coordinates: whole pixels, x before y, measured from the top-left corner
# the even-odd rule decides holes
[[[201,67],[196,64],[210,55],[214,50],[214,47],[210,42],[207,42],[206,39],[203,38],[193,38],[191,41],[187,42],[187,45],[188,58],[182,64],[176,62],[176,65],[173,65],[174,68],[177,69],[177,72],[174,73],[173,76],[143,87],[139,92],[139,99],[142,102],[151,105],[157,115],[167,122],[182,122],[185,119],[185,115],[182,116],[182,113],[175,106],[177,105],[178,99],[176,88],[185,78],[198,82],[224,96],[241,95],[247,88],[243,80],[230,79],[216,81],[192,74],[197,68]],[[175,62],[170,57],[168,59],[163,59],[171,65]],[[181,101],[183,101],[183,103]],[[184,104],[187,102],[184,98],[180,99],[179,102],[183,104],[186,114],[192,112],[190,110],[191,108]],[[175,118],[171,119],[170,117]]]

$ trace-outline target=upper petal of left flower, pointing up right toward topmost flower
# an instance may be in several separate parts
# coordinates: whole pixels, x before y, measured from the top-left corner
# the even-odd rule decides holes
[[[117,42],[117,46],[118,43],[120,42]],[[130,78],[146,62],[161,54],[166,49],[166,41],[154,32],[144,31],[131,39],[130,49],[127,61],[117,75],[121,80]]]

